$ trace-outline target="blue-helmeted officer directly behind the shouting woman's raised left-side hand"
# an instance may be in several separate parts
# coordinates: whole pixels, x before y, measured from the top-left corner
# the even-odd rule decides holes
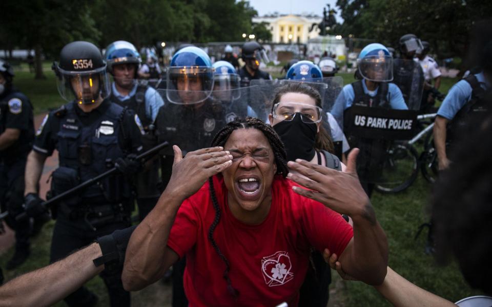
[[[183,154],[210,145],[221,128],[211,103],[213,71],[210,57],[198,47],[188,46],[174,54],[167,72],[166,104],[159,109],[155,121],[159,142],[176,144]],[[171,148],[162,153],[165,187],[171,177],[174,152]],[[182,280],[185,266],[184,258],[173,266],[173,306],[188,305]]]

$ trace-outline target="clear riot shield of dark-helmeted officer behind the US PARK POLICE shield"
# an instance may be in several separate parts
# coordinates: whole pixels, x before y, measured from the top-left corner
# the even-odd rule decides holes
[[[414,60],[393,60],[393,81],[400,88],[409,109],[418,110],[424,90],[424,72]]]

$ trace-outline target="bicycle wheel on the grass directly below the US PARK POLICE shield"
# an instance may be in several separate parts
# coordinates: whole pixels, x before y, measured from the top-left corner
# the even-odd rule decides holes
[[[417,150],[412,145],[394,143],[386,153],[381,180],[375,188],[381,193],[401,192],[411,186],[417,178]]]

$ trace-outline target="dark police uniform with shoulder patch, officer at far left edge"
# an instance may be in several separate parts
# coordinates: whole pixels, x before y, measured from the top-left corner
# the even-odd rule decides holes
[[[16,252],[28,254],[29,220],[16,221],[15,216],[24,210],[24,172],[34,140],[34,124],[31,102],[15,89],[0,96],[0,135],[8,128],[19,129],[20,135],[12,145],[0,150],[0,204],[2,211],[13,215],[6,222],[15,230]]]

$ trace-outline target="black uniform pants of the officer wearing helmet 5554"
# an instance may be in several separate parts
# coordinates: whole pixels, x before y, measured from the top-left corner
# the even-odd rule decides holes
[[[97,237],[107,235],[118,229],[129,227],[127,222],[115,222],[99,227],[96,231],[92,230],[87,223],[78,219],[69,220],[64,215],[59,215],[53,229],[53,239],[51,242],[50,262],[55,262],[64,258],[74,251],[85,247]],[[92,260],[92,259],[91,259]],[[76,274],[76,272],[72,272]],[[70,272],[67,272],[70,274]],[[114,272],[103,271],[100,275],[103,278],[109,292],[109,299],[112,307],[130,306],[130,292],[123,289],[121,282],[121,268]],[[91,293],[85,287],[80,287],[75,292],[65,298],[65,302],[70,306],[86,306],[91,299]]]

